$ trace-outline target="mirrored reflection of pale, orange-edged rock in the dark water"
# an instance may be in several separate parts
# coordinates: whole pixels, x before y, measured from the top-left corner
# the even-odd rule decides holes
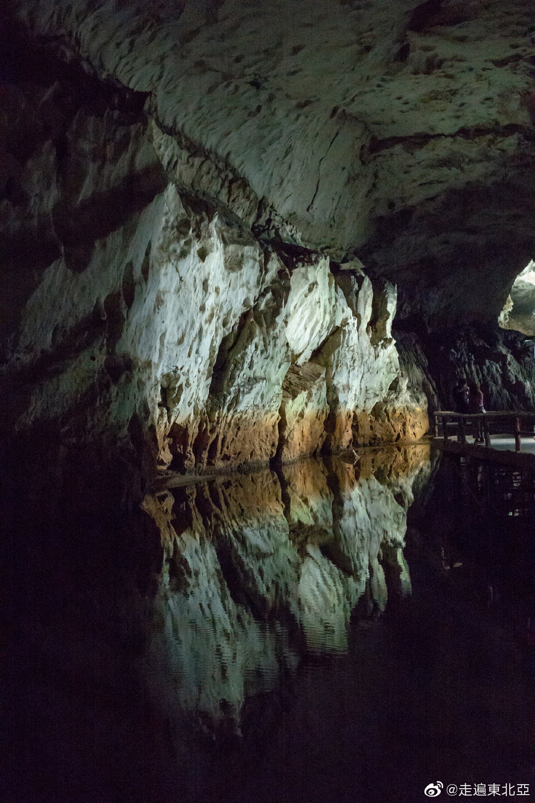
[[[344,651],[360,597],[410,592],[403,536],[427,446],[308,459],[145,497],[164,562],[142,672],[168,713],[239,732],[246,697]]]

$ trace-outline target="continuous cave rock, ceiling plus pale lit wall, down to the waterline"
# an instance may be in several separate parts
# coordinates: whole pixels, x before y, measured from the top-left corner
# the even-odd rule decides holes
[[[8,3],[6,438],[148,477],[419,437],[396,307],[418,336],[495,320],[532,255],[532,22]]]

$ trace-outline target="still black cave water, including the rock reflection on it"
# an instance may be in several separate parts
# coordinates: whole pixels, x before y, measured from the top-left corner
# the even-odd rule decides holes
[[[508,471],[399,446],[32,515],[0,801],[533,799],[533,478]]]

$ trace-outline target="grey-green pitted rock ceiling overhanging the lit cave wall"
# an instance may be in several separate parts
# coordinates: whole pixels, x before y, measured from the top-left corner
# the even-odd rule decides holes
[[[398,284],[401,324],[434,328],[497,316],[533,256],[533,10],[22,0],[9,14],[58,58],[146,93],[178,185],[260,236],[359,257]]]

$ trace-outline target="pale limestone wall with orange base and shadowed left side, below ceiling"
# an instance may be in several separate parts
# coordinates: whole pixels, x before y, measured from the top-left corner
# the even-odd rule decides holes
[[[202,471],[424,433],[391,283],[260,236],[145,96],[42,59],[0,96],[6,437]]]

